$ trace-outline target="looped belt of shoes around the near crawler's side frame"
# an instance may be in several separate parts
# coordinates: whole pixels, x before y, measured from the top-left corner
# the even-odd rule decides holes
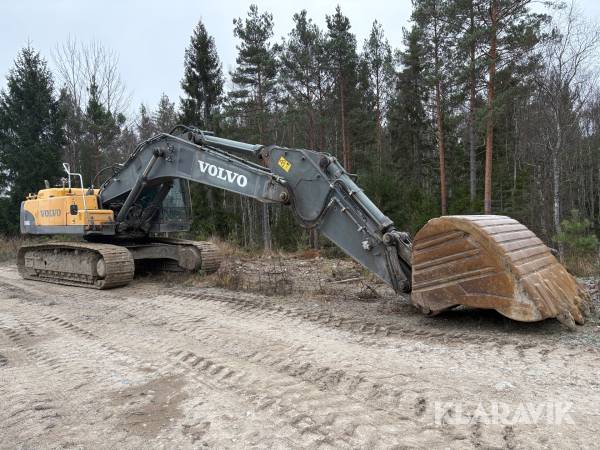
[[[96,254],[104,260],[105,275],[74,274],[57,270],[32,269],[25,266],[27,252],[42,252],[52,258],[57,251],[79,251]],[[28,280],[46,281],[70,286],[82,286],[94,289],[110,289],[123,286],[133,279],[135,265],[133,257],[125,247],[112,244],[96,244],[90,242],[52,242],[46,244],[25,245],[17,254],[19,273]]]

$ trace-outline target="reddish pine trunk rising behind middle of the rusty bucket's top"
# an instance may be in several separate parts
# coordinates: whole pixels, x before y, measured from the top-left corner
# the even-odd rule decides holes
[[[485,137],[485,183],[483,208],[485,214],[492,213],[492,152],[494,147],[494,78],[496,76],[496,27],[498,22],[497,0],[492,0],[490,9],[491,36],[490,36],[490,62],[488,66],[488,98],[487,98],[487,125]]]

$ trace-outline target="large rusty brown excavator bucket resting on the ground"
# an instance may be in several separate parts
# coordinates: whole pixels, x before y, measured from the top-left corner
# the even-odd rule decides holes
[[[514,320],[556,318],[569,328],[589,314],[589,294],[525,225],[505,216],[430,220],[413,243],[412,302],[426,314],[458,305]]]

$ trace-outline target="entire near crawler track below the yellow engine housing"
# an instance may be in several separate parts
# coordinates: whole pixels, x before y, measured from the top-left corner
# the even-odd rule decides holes
[[[94,289],[128,284],[135,271],[133,257],[125,247],[88,242],[52,242],[25,245],[17,254],[21,276]]]

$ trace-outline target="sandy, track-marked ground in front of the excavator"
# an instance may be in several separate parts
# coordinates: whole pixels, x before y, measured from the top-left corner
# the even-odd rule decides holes
[[[0,447],[597,448],[597,320],[426,318],[346,262],[225,268],[99,292],[0,266]]]

